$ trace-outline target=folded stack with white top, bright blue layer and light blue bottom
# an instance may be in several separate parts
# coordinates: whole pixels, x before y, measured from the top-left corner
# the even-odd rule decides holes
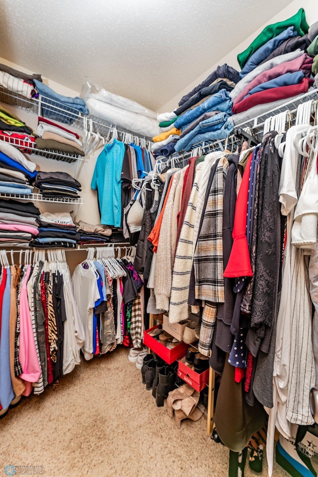
[[[30,195],[36,164],[9,143],[0,141],[0,194]]]

